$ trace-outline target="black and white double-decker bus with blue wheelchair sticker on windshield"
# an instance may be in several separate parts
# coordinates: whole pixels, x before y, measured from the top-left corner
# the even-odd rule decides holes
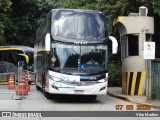
[[[52,9],[37,30],[35,81],[47,98],[54,94],[97,95],[107,93],[108,40],[113,53],[117,40],[108,36],[102,12]]]

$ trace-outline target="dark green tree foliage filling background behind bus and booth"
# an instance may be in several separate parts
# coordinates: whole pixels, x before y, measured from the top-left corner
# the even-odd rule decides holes
[[[155,19],[156,51],[160,48],[160,1],[159,0],[0,0],[0,45],[22,44],[32,46],[36,30],[51,9],[92,9],[102,11],[108,22],[109,35],[119,37],[112,22],[118,16],[138,12],[140,6],[149,9]],[[119,41],[120,42],[120,41]],[[160,57],[160,52],[156,52]],[[121,75],[120,46],[118,55],[109,55],[109,80]],[[118,77],[116,77],[118,76]]]

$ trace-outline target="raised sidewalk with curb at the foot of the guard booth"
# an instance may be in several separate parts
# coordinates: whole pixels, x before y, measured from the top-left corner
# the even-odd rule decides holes
[[[122,87],[108,87],[108,95],[122,99],[125,101],[130,101],[136,104],[147,104],[151,105],[155,109],[160,109],[160,100],[148,100],[145,95],[143,96],[130,96],[122,94]]]

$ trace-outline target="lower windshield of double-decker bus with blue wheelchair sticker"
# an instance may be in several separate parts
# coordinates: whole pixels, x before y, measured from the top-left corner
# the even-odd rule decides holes
[[[106,72],[107,45],[76,45],[52,43],[51,69],[68,74],[99,74]]]

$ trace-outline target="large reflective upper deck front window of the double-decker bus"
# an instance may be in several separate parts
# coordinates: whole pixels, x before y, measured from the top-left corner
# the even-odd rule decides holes
[[[52,14],[51,32],[54,39],[104,40],[107,23],[99,12],[60,10]]]

